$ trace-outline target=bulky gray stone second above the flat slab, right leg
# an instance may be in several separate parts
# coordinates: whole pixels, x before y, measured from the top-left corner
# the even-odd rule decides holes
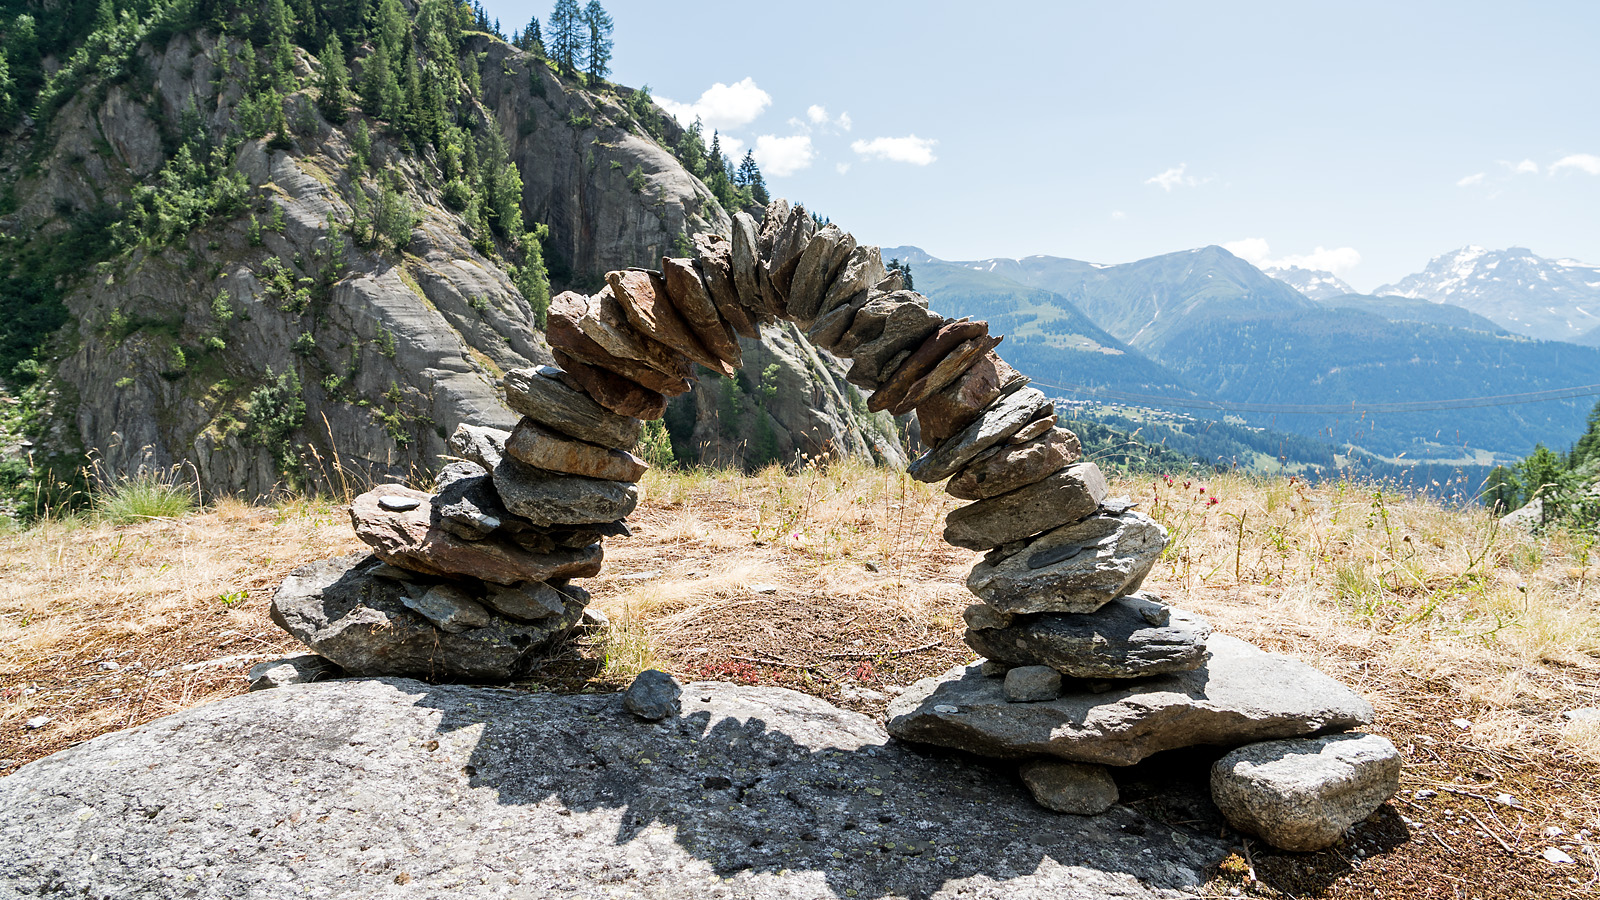
[[[1155,519],[1102,512],[1046,532],[1002,559],[984,559],[966,588],[1010,613],[1094,612],[1138,591],[1165,546],[1166,528]]]

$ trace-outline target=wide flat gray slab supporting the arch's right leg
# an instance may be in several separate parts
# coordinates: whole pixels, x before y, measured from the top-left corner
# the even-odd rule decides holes
[[[1226,634],[1205,666],[1104,693],[1066,692],[1008,703],[981,665],[957,666],[906,689],[888,708],[890,733],[979,756],[1056,756],[1133,765],[1181,746],[1240,746],[1342,730],[1373,721],[1371,703],[1306,663]]]

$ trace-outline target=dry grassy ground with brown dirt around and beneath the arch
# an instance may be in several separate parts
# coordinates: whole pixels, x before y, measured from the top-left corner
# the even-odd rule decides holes
[[[659,666],[880,716],[898,689],[973,660],[960,613],[976,554],[939,540],[954,501],[926,485],[842,469],[646,487],[634,536],[608,541],[587,583],[611,626],[520,687],[616,690]],[[1118,772],[1122,802],[1235,842],[1208,894],[1600,897],[1600,732],[1562,717],[1600,706],[1587,549],[1358,487],[1118,487],[1173,533],[1147,591],[1352,684],[1405,756],[1402,793],[1320,854],[1230,833],[1203,790],[1216,753]],[[0,535],[0,775],[242,692],[251,665],[301,652],[267,618],[277,583],[357,548],[342,509],[309,501]]]

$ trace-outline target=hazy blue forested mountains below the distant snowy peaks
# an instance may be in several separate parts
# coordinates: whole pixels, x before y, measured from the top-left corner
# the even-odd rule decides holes
[[[1592,399],[1408,413],[1374,405],[1600,383],[1594,348],[1530,340],[1430,298],[1344,285],[1314,299],[1221,247],[1120,266],[1053,256],[950,263],[914,247],[885,256],[909,261],[941,312],[989,319],[1008,335],[1006,359],[1062,396],[1219,404],[1254,426],[1386,460],[1486,466],[1536,442],[1565,447]],[[1314,277],[1307,287],[1334,285]],[[1294,412],[1307,405],[1349,412]]]

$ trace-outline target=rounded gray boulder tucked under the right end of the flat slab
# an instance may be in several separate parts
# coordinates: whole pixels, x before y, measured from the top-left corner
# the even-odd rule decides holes
[[[1387,738],[1346,733],[1242,746],[1211,767],[1229,825],[1283,850],[1323,850],[1400,790]]]

